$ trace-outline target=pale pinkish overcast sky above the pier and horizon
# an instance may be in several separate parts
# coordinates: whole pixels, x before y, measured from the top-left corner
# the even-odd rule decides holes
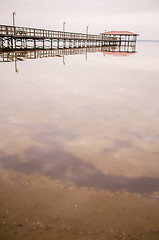
[[[138,39],[159,40],[159,0],[5,0],[0,24],[99,34],[113,30],[138,33]]]

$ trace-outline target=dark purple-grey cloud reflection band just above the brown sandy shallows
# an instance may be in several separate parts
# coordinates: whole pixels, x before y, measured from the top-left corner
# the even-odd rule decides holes
[[[129,192],[142,194],[159,190],[157,177],[133,178],[103,174],[92,164],[83,162],[62,148],[45,151],[30,148],[24,152],[23,162],[18,155],[7,155],[1,152],[0,165],[25,174],[38,172],[52,179],[72,181],[79,187],[95,187],[109,191],[126,189]]]

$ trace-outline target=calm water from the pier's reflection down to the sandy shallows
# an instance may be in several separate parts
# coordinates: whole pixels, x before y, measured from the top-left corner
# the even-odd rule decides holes
[[[0,62],[1,239],[158,239],[159,42],[136,51]]]

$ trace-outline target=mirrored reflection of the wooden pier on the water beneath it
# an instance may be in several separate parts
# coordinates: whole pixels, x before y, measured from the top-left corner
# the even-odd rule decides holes
[[[25,59],[37,59],[48,57],[63,57],[66,55],[87,54],[93,52],[107,53],[135,53],[135,46],[104,46],[87,48],[59,48],[59,49],[36,49],[0,52],[0,62],[24,61]]]

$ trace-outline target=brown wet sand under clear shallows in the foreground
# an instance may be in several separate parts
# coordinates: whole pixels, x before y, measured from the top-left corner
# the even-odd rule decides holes
[[[0,239],[159,238],[159,193],[78,188],[0,170]]]

